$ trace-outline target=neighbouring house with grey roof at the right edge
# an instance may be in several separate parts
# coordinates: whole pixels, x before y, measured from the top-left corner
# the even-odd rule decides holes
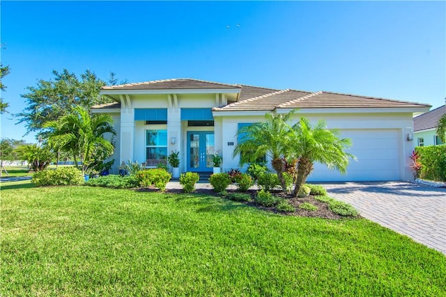
[[[413,118],[413,140],[415,146],[443,145],[440,137],[436,134],[438,120],[446,113],[446,105],[433,109]]]

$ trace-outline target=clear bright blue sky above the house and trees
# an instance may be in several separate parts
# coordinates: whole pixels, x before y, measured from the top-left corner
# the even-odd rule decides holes
[[[1,1],[1,137],[52,70],[189,77],[445,104],[445,1]],[[240,24],[240,26],[237,26]],[[227,29],[229,26],[229,29]],[[34,135],[23,137],[35,142]]]

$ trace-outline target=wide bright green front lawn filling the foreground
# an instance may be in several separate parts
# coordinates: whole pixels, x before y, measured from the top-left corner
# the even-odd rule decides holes
[[[206,195],[1,189],[0,296],[445,296],[446,257],[365,219]]]

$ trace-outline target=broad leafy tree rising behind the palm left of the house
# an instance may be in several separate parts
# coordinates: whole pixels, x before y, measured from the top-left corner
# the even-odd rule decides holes
[[[99,95],[100,87],[107,83],[90,70],[80,78],[66,69],[62,72],[53,70],[52,74],[54,79],[40,79],[37,86],[28,87],[29,93],[22,95],[27,107],[15,116],[26,124],[28,132],[42,131],[45,122],[59,120],[72,112],[75,106],[90,109],[95,104],[111,102],[111,99]]]

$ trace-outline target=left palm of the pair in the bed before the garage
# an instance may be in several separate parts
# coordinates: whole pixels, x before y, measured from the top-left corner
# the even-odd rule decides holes
[[[256,122],[253,125],[242,127],[238,131],[239,143],[234,148],[233,156],[240,154],[240,163],[248,162],[269,156],[272,168],[277,172],[282,190],[286,191],[283,177],[285,169],[284,156],[288,150],[286,137],[291,131],[287,121],[294,111],[286,115],[274,115],[267,113],[266,122]]]

